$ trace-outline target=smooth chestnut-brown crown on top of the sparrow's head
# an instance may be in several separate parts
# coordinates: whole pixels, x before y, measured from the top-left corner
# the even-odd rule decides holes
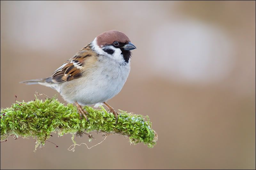
[[[112,44],[114,41],[122,43],[130,42],[129,38],[124,33],[116,30],[107,31],[97,36],[97,45],[99,47]]]

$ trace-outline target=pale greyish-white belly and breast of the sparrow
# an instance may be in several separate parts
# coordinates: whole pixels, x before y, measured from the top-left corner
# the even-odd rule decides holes
[[[59,92],[69,103],[77,101],[83,106],[102,103],[121,91],[129,72],[130,63],[101,64],[84,77],[59,84]]]

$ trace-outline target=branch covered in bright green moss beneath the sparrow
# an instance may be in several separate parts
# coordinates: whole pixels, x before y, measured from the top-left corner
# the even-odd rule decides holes
[[[29,102],[16,102],[10,108],[1,108],[1,141],[16,137],[36,137],[36,147],[45,144],[52,132],[60,136],[71,133],[83,134],[91,131],[127,136],[132,144],[144,143],[148,147],[156,144],[157,134],[151,129],[148,116],[134,115],[119,110],[117,123],[112,113],[104,107],[84,107],[89,115],[88,123],[80,118],[72,104],[64,106],[56,98]],[[147,119],[147,120],[146,120]],[[73,141],[74,142],[74,141]]]

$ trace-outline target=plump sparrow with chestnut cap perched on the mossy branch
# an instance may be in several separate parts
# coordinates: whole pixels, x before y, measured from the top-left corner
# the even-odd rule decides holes
[[[106,102],[123,88],[131,69],[131,50],[136,49],[122,32],[110,30],[63,63],[48,78],[20,83],[39,84],[57,90],[62,98],[77,107],[80,117],[90,123],[82,106],[105,105],[118,120],[118,112]]]

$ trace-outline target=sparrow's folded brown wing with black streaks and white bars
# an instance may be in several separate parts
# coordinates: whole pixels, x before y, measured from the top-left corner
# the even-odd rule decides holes
[[[80,78],[83,72],[88,70],[96,61],[97,54],[92,51],[90,44],[88,44],[54,71],[52,76],[46,79],[46,82],[60,83]]]

